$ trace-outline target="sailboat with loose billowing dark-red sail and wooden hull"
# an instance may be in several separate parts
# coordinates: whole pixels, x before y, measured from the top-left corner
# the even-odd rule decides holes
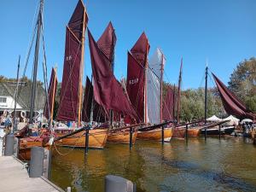
[[[107,30],[113,32],[111,23],[108,25]],[[106,31],[103,33],[106,34]],[[108,34],[109,33],[108,30]],[[113,33],[112,33],[113,34]],[[88,30],[89,44],[90,44],[90,59],[93,75],[93,95],[96,103],[98,103],[106,111],[112,110],[114,113],[126,115],[133,119],[137,116],[136,112],[131,106],[129,98],[125,95],[122,85],[113,75],[113,56],[106,55],[101,48],[99,41],[96,43]],[[101,40],[102,38],[100,38]],[[110,111],[111,113],[111,111]],[[105,129],[108,127],[106,125]],[[129,143],[129,130],[131,126],[120,127],[118,129],[110,129],[108,134],[109,143]],[[103,127],[102,127],[103,128]],[[127,131],[128,130],[128,131]],[[132,137],[135,142],[136,132],[133,132]]]

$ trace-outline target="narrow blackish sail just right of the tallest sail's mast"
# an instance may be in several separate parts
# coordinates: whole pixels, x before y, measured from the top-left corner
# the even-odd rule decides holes
[[[83,111],[82,111],[82,120],[84,122],[90,121],[90,110],[91,110],[92,99],[93,99],[93,86],[90,82],[90,79],[86,77]]]

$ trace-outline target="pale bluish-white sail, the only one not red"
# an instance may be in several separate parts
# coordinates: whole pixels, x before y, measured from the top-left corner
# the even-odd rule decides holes
[[[160,49],[156,49],[149,60],[147,72],[148,122],[160,124],[161,120],[161,80],[166,59]]]

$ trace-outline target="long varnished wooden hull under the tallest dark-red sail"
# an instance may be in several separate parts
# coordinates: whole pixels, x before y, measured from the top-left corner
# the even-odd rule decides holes
[[[55,132],[57,137],[65,136],[67,133]],[[96,129],[89,131],[89,148],[104,148],[108,139],[108,130],[106,129]],[[63,138],[55,142],[58,146],[63,147],[75,147],[84,148],[85,147],[85,131],[81,131],[74,134],[71,137]]]

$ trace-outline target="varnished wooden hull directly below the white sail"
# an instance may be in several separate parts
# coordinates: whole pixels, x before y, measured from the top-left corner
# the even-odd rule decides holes
[[[170,142],[172,138],[172,128],[165,128],[164,131],[165,142]],[[161,128],[154,129],[152,131],[137,131],[137,139],[140,140],[152,140],[160,142],[162,140]]]

